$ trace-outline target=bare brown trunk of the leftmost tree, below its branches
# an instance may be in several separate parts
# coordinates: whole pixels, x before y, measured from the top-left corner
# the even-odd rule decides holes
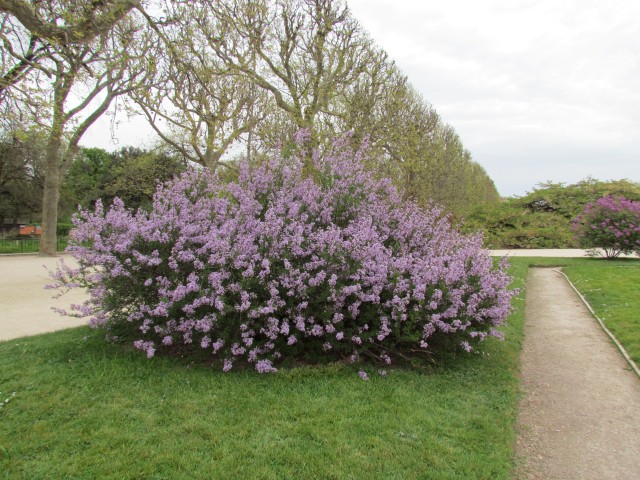
[[[42,235],[40,255],[54,257],[57,253],[58,199],[60,198],[60,139],[53,138],[47,145],[42,196]]]

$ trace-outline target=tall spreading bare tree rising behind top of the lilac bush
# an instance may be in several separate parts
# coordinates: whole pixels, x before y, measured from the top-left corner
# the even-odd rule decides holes
[[[342,0],[203,0],[197,19],[228,68],[318,141],[318,120],[368,68],[370,42]]]

